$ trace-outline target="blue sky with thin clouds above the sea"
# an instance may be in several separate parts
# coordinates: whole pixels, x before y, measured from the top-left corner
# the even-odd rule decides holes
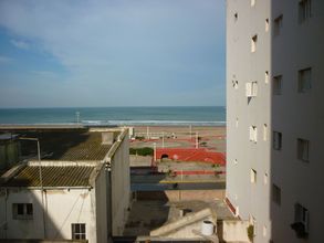
[[[217,106],[223,0],[1,0],[0,107]]]

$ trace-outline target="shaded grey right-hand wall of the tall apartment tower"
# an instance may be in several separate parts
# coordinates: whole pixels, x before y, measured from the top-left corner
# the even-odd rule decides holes
[[[299,22],[299,2],[273,0],[272,20],[283,15],[282,31],[272,38],[272,74],[282,75],[282,95],[272,97],[272,130],[282,133],[282,149],[272,151],[272,183],[281,203],[271,204],[273,242],[324,242],[324,1],[312,0],[312,15]],[[299,93],[299,70],[312,67],[312,87]],[[310,140],[310,162],[297,159],[297,138]],[[294,204],[309,210],[309,239],[291,229]]]

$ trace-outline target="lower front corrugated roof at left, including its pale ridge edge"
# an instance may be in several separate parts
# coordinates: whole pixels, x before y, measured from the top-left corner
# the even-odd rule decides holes
[[[0,187],[28,187],[39,188],[73,188],[91,187],[90,179],[96,168],[93,165],[72,163],[48,163],[29,162],[20,165],[1,177]],[[40,181],[40,170],[42,172],[42,184]]]

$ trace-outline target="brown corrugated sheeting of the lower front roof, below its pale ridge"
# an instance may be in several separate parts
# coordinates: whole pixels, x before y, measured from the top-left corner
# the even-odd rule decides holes
[[[92,166],[45,166],[42,169],[43,187],[88,187]],[[27,166],[2,187],[41,187],[40,167]]]

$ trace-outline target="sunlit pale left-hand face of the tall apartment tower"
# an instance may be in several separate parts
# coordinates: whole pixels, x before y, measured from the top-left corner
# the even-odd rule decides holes
[[[270,186],[270,0],[227,1],[227,197],[242,220],[255,221],[255,242],[269,242]],[[251,52],[252,38],[255,52]],[[238,84],[236,84],[238,82]],[[247,97],[245,85],[258,83],[257,96]],[[266,125],[266,140],[263,127]],[[257,141],[250,141],[250,127]],[[251,182],[251,169],[257,181]]]

